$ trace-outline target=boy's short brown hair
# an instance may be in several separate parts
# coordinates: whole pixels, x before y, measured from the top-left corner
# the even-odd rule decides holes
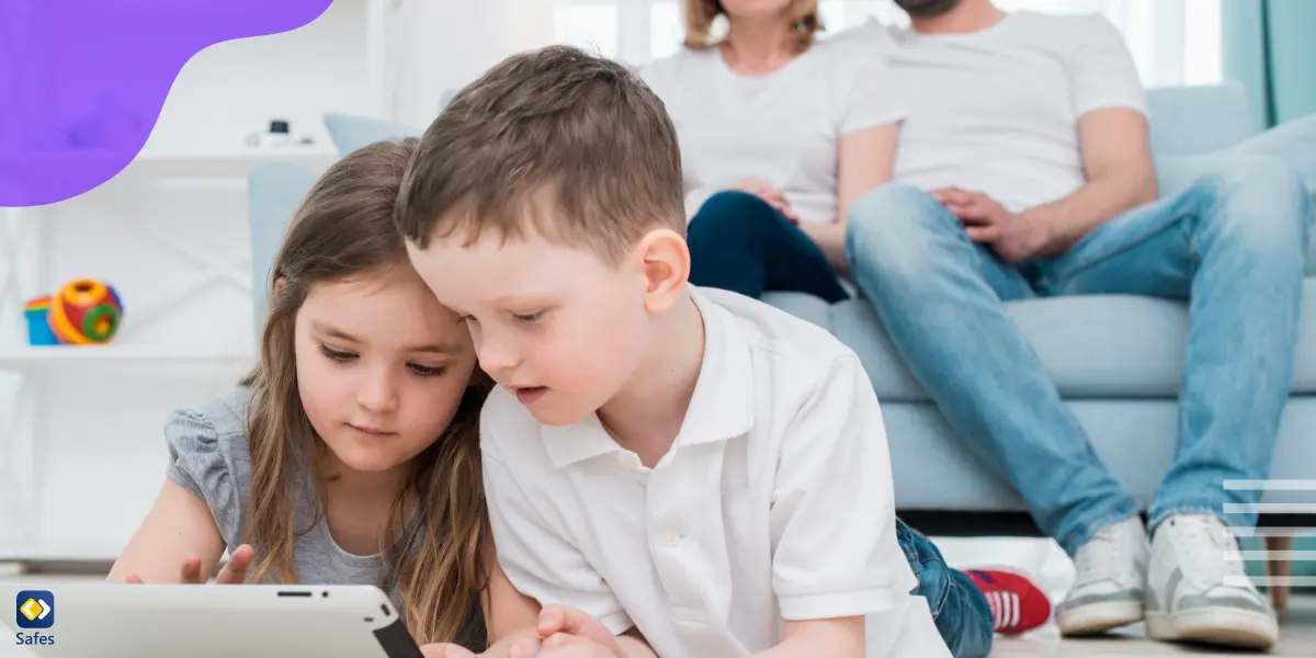
[[[625,66],[569,46],[504,59],[421,138],[397,199],[420,249],[537,230],[616,265],[654,228],[686,233],[676,130]]]

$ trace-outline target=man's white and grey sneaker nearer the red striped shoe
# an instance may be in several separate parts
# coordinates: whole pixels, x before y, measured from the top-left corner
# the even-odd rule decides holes
[[[1096,532],[1074,554],[1078,580],[1055,608],[1065,636],[1104,633],[1142,620],[1148,532],[1138,517]]]

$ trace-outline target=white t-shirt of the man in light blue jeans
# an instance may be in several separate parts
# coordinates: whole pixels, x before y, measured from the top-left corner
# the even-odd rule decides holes
[[[1145,113],[1133,57],[1100,14],[1016,12],[971,34],[921,34],[870,20],[837,38],[879,46],[908,93],[896,180],[978,190],[1012,212],[1084,184],[1084,113]]]

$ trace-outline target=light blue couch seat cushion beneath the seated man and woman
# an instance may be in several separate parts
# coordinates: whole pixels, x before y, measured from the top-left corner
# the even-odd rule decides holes
[[[1305,280],[1303,296],[1292,390],[1316,393],[1316,279]],[[928,400],[866,300],[851,299],[828,309],[821,300],[809,299],[765,296],[767,303],[830,329],[858,353],[883,401]],[[1188,332],[1184,303],[1090,295],[1015,301],[1005,308],[1065,397],[1178,396]]]

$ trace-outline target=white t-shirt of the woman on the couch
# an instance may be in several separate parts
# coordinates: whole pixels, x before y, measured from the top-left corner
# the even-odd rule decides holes
[[[899,121],[900,95],[880,53],[822,39],[759,76],[733,71],[719,49],[683,49],[641,75],[680,139],[686,216],[747,178],[771,183],[801,221],[837,218],[837,139]]]

